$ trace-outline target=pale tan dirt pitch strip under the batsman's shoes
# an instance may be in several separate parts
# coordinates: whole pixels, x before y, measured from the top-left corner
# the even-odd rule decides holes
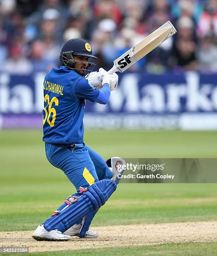
[[[0,247],[28,247],[30,252],[76,250],[156,243],[217,241],[217,221],[120,225],[92,228],[96,239],[71,238],[67,242],[35,241],[33,231],[0,232]]]

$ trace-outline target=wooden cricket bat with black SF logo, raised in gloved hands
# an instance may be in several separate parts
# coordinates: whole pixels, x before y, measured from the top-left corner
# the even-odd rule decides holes
[[[114,66],[108,71],[109,74],[114,72],[124,72],[134,63],[146,56],[150,51],[154,50],[159,44],[163,43],[167,38],[177,33],[176,29],[170,21],[164,23],[149,36],[146,36],[141,42],[126,51],[119,58],[114,60]],[[93,80],[92,85],[97,85],[98,79]]]

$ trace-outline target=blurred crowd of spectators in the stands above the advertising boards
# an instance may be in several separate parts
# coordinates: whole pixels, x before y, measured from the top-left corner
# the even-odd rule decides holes
[[[178,33],[131,71],[217,72],[217,0],[0,0],[0,71],[58,67],[64,42],[78,37],[91,43],[96,69],[109,69],[167,20]]]

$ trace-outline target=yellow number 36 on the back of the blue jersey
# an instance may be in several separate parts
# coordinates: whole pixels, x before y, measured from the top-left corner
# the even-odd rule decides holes
[[[46,110],[47,106],[44,108],[45,111],[45,118],[43,117],[43,125],[45,124],[46,120],[48,122],[48,124],[50,125],[50,127],[52,127],[54,125],[55,119],[56,119],[56,110],[55,108],[51,108],[52,104],[54,103],[55,106],[59,105],[59,100],[57,97],[53,97],[51,100],[49,98],[49,95],[46,94],[45,95],[45,103],[47,102],[47,106],[48,106],[48,111]],[[51,113],[53,113],[53,117],[52,117],[52,121],[50,122],[50,115]]]

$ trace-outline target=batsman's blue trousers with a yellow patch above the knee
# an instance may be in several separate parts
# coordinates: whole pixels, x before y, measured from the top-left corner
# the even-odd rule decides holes
[[[101,179],[112,178],[105,160],[84,143],[63,146],[45,143],[45,153],[50,164],[61,169],[76,187],[77,193],[72,196],[82,195],[80,187],[85,189]],[[57,210],[61,211],[66,206],[64,202]]]

